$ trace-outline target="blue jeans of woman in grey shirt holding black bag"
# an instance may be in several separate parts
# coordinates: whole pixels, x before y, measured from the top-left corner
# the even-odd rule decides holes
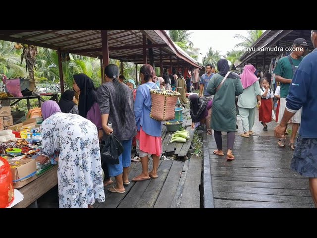
[[[115,176],[121,175],[123,173],[123,168],[129,167],[131,165],[132,139],[131,140],[123,140],[123,141],[120,141],[120,143],[123,146],[123,152],[119,156],[120,163],[118,165],[108,164],[110,177],[115,177]]]

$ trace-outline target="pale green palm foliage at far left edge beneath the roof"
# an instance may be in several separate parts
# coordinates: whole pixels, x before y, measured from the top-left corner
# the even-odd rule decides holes
[[[8,78],[26,77],[24,64],[20,65],[21,50],[14,49],[14,43],[0,40],[0,71]]]

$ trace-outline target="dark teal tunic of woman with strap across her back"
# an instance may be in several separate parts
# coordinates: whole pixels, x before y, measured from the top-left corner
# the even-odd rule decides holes
[[[219,91],[216,88],[223,76],[216,73],[207,86],[207,92],[214,95],[212,102],[211,128],[216,131],[236,131],[235,97],[243,92],[240,78],[226,78]]]

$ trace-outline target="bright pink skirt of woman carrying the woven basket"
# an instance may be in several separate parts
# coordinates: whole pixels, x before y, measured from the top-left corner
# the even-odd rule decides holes
[[[140,150],[151,155],[160,156],[162,153],[162,139],[160,136],[148,135],[141,126],[135,137],[140,141]]]

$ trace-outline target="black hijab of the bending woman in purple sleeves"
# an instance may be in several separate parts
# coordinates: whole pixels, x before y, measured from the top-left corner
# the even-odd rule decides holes
[[[190,102],[190,117],[193,122],[199,122],[206,117],[207,102],[201,101],[198,95],[192,94],[188,97]]]

